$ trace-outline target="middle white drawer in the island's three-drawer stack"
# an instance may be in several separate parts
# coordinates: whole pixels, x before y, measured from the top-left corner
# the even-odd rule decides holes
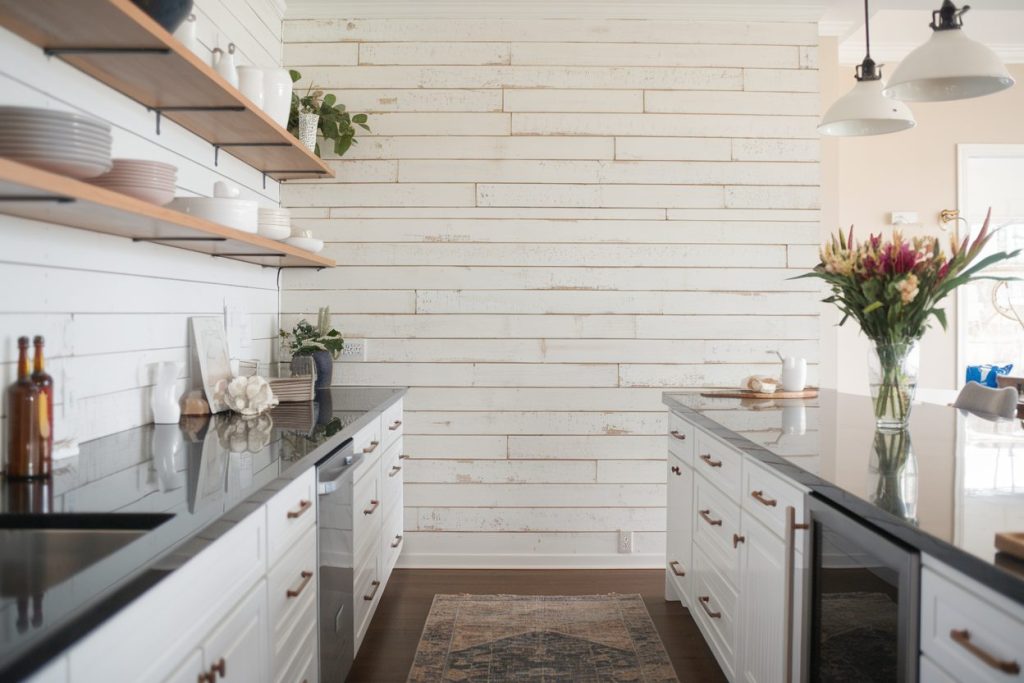
[[[703,546],[729,585],[739,585],[739,506],[708,483],[699,474],[694,477],[693,541]]]

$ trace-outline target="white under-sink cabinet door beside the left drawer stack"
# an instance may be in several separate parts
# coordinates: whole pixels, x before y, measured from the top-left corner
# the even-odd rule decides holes
[[[260,581],[203,644],[205,670],[238,683],[267,683],[266,582]]]

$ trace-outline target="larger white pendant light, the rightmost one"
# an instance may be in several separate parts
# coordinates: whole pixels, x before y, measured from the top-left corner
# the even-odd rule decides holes
[[[964,13],[952,0],[932,12],[932,37],[906,55],[883,91],[887,97],[911,102],[980,97],[1014,84],[1002,60],[964,33]]]

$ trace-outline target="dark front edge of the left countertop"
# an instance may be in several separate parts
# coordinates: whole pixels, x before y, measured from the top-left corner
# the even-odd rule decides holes
[[[358,387],[346,387],[357,389]],[[380,390],[382,387],[373,387]],[[189,559],[224,536],[236,524],[258,510],[274,494],[296,477],[316,465],[338,445],[352,438],[356,432],[406,395],[407,387],[391,387],[391,393],[358,419],[345,425],[341,431],[317,445],[314,450],[292,463],[278,477],[253,492],[222,514],[211,516],[203,525],[180,539],[164,552],[155,555],[145,565],[125,574],[108,586],[95,599],[84,604],[74,613],[67,614],[59,623],[47,628],[42,638],[25,643],[24,647],[0,653],[0,681],[22,681],[37,673],[55,657],[63,654],[79,640],[88,636],[109,618],[137,600],[146,591],[160,584],[183,566]],[[89,515],[85,515],[89,516]],[[124,517],[122,513],[118,517]],[[144,515],[151,516],[151,515]],[[9,524],[7,525],[9,526]]]

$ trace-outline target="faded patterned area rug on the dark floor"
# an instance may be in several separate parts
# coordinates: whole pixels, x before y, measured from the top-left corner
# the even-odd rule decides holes
[[[678,683],[639,595],[435,595],[409,683]]]

